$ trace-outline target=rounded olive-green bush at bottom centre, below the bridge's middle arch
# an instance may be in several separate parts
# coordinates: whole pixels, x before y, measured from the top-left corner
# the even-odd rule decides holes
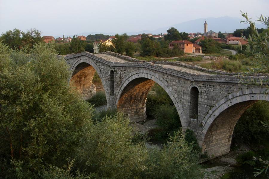
[[[145,146],[132,144],[130,121],[118,113],[103,118],[80,139],[77,150],[80,168],[100,177],[132,178],[146,167]]]

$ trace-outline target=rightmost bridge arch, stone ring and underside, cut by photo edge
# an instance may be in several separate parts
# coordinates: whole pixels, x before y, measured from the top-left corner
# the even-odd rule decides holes
[[[208,111],[202,121],[202,152],[218,157],[230,151],[234,127],[241,115],[257,101],[269,101],[265,88],[253,88],[225,96]]]

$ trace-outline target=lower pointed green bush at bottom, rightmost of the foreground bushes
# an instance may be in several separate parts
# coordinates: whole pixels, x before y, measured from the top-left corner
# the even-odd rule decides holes
[[[143,178],[201,178],[198,153],[193,152],[182,132],[170,136],[162,150],[151,150],[146,163]]]

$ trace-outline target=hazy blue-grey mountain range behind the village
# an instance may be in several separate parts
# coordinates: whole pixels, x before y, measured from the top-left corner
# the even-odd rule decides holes
[[[84,33],[78,33],[75,35],[78,36],[88,36],[89,34],[107,34],[107,35],[115,35],[115,34],[123,34],[127,33],[128,35],[138,35],[142,33],[151,33],[151,34],[160,34],[160,33],[166,33],[166,30],[170,27],[175,27],[179,32],[187,32],[187,33],[197,33],[201,32],[204,33],[204,21],[207,21],[208,27],[207,30],[213,30],[214,32],[218,33],[221,31],[222,33],[233,33],[236,29],[242,29],[247,28],[248,24],[242,24],[240,23],[242,19],[236,18],[236,17],[229,17],[229,16],[223,16],[223,17],[208,17],[208,18],[198,18],[191,21],[181,22],[179,24],[174,24],[168,27],[162,27],[158,28],[156,30],[142,30],[138,32],[84,32]],[[261,23],[256,23],[257,28],[265,28],[265,25]],[[65,35],[67,36],[73,36],[73,35]],[[60,36],[54,36],[54,37],[62,37]]]

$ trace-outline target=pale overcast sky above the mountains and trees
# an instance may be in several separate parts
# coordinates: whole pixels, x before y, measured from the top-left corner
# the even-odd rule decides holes
[[[155,30],[197,18],[269,15],[269,0],[0,0],[0,33],[32,27],[42,36]]]

